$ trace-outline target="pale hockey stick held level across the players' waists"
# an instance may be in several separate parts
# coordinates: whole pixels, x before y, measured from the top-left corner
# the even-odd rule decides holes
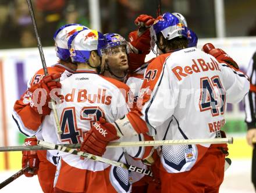
[[[126,141],[126,142],[109,142],[107,148],[120,148],[125,146],[159,146],[159,145],[190,145],[190,144],[233,144],[233,138],[214,138],[199,140],[160,140],[160,141]],[[81,144],[59,144],[67,148],[77,149]],[[29,150],[49,150],[51,148],[38,145],[29,146],[2,146],[0,152],[5,151],[29,151]]]

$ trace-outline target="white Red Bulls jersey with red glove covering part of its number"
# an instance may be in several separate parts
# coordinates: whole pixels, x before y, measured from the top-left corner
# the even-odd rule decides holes
[[[42,124],[42,136],[45,141],[55,144],[81,143],[83,135],[99,117],[105,117],[107,121],[113,122],[129,111],[126,103],[129,87],[113,78],[99,76],[94,70],[77,70],[72,76],[61,81],[61,84],[62,102],[56,105],[56,109],[63,133],[59,135],[56,128],[49,127],[54,123],[54,113],[51,112],[51,119],[45,120]],[[122,138],[122,141],[141,140],[143,139],[139,139],[138,135]],[[107,148],[102,157],[126,163],[124,152],[139,158],[143,155],[143,148]],[[82,160],[80,156],[65,152],[59,152],[59,155],[68,165],[78,169],[101,171],[109,167],[106,163]],[[130,191],[128,170],[112,166],[109,175],[117,191]]]

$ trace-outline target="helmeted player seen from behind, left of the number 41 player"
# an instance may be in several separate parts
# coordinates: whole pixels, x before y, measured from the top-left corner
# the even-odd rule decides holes
[[[75,33],[69,39],[69,49],[72,62],[77,63],[77,70],[69,78],[61,81],[62,103],[57,106],[58,115],[61,115],[60,124],[63,134],[59,135],[49,128],[48,137],[44,140],[55,143],[82,143],[81,151],[90,151],[94,155],[101,155],[98,149],[105,146],[106,141],[117,140],[114,133],[101,131],[101,141],[91,149],[93,140],[97,138],[88,132],[99,117],[107,121],[114,121],[127,112],[126,102],[129,87],[113,78],[100,76],[105,65],[106,40],[104,35],[95,30],[83,30]],[[114,50],[112,50],[114,51]],[[120,50],[119,50],[120,51]],[[123,65],[127,60],[122,59]],[[120,92],[124,90],[125,95]],[[51,113],[51,117],[53,117]],[[52,118],[52,120],[54,120]],[[104,122],[102,119],[101,122]],[[55,131],[54,134],[51,131]],[[44,133],[44,131],[43,131]],[[84,135],[86,134],[86,135]],[[85,137],[84,137],[85,136]],[[90,140],[87,140],[90,136]],[[98,136],[99,137],[99,136]],[[138,138],[138,136],[133,136]],[[84,139],[83,139],[84,138]],[[133,155],[141,152],[134,151]],[[131,183],[129,171],[120,167],[80,159],[80,156],[61,153],[61,164],[58,167],[55,192],[130,192]],[[133,156],[132,155],[132,156]],[[107,149],[104,158],[126,162],[122,148]]]

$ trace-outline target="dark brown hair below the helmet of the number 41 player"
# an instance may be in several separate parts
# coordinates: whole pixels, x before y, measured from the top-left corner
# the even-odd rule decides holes
[[[159,41],[162,40],[163,52],[169,52],[175,49],[183,49],[187,48],[189,45],[189,41],[185,37],[176,37],[172,40],[167,40],[163,37],[162,33],[157,34],[158,44]]]

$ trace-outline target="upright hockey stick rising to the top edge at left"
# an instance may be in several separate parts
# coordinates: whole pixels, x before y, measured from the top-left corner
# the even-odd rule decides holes
[[[39,53],[40,53],[42,68],[44,69],[44,75],[47,76],[48,75],[48,70],[47,70],[47,66],[46,66],[46,63],[45,63],[44,52],[42,51],[42,44],[41,44],[40,36],[38,34],[38,31],[37,31],[37,23],[35,22],[34,10],[33,10],[33,7],[32,7],[31,0],[27,0],[27,5],[29,5],[29,12],[30,12],[31,20],[32,20],[32,23],[33,23],[34,31],[35,31],[35,37],[37,38],[37,46],[38,46]],[[51,99],[51,104],[52,104],[52,110],[54,110],[54,119],[55,119],[55,123],[56,123],[56,127],[57,127],[57,133],[62,134],[61,126],[59,125],[58,113],[57,113],[57,110],[56,110],[54,100],[52,100],[52,99]]]

